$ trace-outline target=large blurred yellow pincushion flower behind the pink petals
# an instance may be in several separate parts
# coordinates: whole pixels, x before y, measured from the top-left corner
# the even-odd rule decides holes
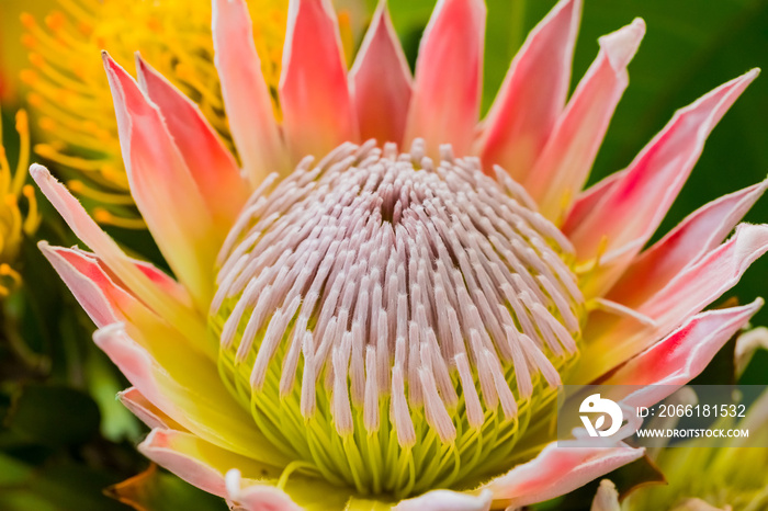
[[[228,126],[213,63],[211,3],[182,0],[58,0],[43,20],[22,14],[30,68],[21,73],[44,140],[37,155],[68,171],[69,188],[99,206],[102,224],[143,227],[121,159],[112,95],[99,52],[123,64],[140,52],[201,107],[225,139]],[[287,0],[249,0],[261,71],[278,89]],[[273,94],[273,96],[275,96]],[[273,104],[279,117],[276,103]]]

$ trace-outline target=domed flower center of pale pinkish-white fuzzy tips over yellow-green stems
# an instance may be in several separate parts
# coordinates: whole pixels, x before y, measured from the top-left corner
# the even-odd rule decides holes
[[[476,159],[342,145],[264,183],[225,241],[219,373],[302,470],[397,498],[473,484],[575,362],[571,254]]]

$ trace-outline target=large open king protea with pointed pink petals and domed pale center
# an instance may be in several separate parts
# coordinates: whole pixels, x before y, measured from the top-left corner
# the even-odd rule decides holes
[[[561,1],[478,125],[485,12],[439,1],[411,78],[384,3],[348,73],[329,2],[293,0],[278,124],[246,4],[215,0],[242,169],[142,58],[136,82],[104,56],[131,191],[176,279],[31,171],[93,250],[41,245],[133,384],[149,458],[246,509],[524,506],[643,455],[553,444],[556,385],[682,384],[760,307],[701,313],[768,249],[768,226],[721,245],[765,183],[643,250],[757,71],[581,192],[644,23],[600,38],[566,104],[580,2]],[[647,388],[619,398],[665,397]]]

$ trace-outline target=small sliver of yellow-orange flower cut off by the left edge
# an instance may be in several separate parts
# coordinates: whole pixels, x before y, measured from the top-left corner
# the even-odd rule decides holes
[[[30,164],[30,136],[24,111],[16,114],[16,132],[20,144],[15,168],[9,163],[5,148],[0,144],[0,297],[8,296],[21,282],[21,276],[12,264],[19,254],[23,236],[32,235],[39,225],[34,190],[32,185],[25,184],[26,168]],[[19,207],[22,195],[27,202],[25,215]]]

